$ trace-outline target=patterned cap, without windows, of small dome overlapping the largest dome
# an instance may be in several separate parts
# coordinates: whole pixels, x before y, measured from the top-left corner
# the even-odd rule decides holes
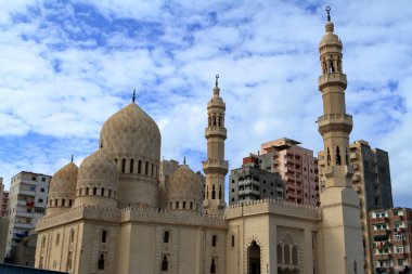
[[[80,165],[77,188],[80,186],[102,186],[116,190],[116,162],[103,149],[87,157]]]

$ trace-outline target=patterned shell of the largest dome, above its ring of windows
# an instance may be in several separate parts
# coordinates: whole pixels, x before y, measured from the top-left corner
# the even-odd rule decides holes
[[[103,125],[100,144],[111,156],[160,158],[160,131],[136,103],[113,115]]]

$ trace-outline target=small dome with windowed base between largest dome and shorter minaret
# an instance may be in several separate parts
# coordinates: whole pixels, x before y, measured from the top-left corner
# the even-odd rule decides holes
[[[199,209],[202,205],[202,181],[186,165],[182,165],[169,181],[169,203],[173,209]],[[176,206],[179,205],[179,206]]]

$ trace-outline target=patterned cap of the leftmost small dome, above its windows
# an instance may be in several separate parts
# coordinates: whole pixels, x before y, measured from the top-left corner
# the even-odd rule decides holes
[[[50,181],[49,197],[54,198],[60,194],[75,196],[78,168],[69,162],[54,173]]]

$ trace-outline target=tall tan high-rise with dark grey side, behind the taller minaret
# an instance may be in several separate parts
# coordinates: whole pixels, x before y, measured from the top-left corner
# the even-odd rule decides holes
[[[372,148],[366,141],[359,140],[350,144],[350,160],[353,168],[352,187],[358,193],[361,210],[361,223],[365,272],[373,273],[369,212],[373,209],[388,209],[394,206],[390,183],[389,155],[379,148]],[[323,170],[326,159],[323,152],[319,153],[319,169]],[[320,173],[321,187],[325,178]]]

